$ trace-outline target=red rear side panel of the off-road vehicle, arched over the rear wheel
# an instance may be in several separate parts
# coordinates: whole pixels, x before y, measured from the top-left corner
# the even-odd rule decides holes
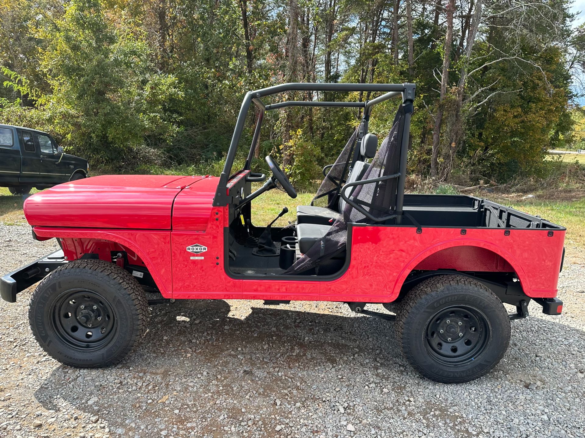
[[[565,231],[550,236],[546,229],[508,231],[424,227],[418,234],[415,227],[353,227],[349,268],[339,279],[321,283],[321,300],[393,301],[411,270],[455,246],[476,246],[501,256],[528,296],[555,297]],[[468,266],[474,265],[484,263],[470,260]]]

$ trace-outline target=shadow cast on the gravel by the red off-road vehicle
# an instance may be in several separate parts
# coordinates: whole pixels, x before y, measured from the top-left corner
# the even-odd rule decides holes
[[[431,411],[466,412],[462,391],[498,385],[529,391],[532,381],[546,380],[542,363],[585,348],[585,333],[572,329],[579,332],[572,343],[539,349],[546,344],[534,338],[546,339],[550,327],[562,324],[514,321],[510,349],[495,370],[467,384],[443,385],[408,366],[393,322],[326,313],[335,303],[304,304],[319,312],[301,311],[301,304],[250,308],[247,303],[230,308],[220,300],[185,300],[155,306],[144,342],[128,359],[109,369],[57,366],[35,397],[49,410],[75,406],[88,427],[124,436],[160,436],[167,429],[168,436],[223,436],[223,427],[232,433],[232,427],[250,427],[250,432],[259,419],[273,433],[277,425],[299,418],[339,416],[337,405],[346,405],[341,412],[346,421],[375,415],[384,425],[380,430],[398,430],[388,422],[407,412],[421,421]],[[413,394],[424,403],[410,402]],[[91,416],[99,422],[89,423]],[[254,426],[245,426],[248,418]]]

